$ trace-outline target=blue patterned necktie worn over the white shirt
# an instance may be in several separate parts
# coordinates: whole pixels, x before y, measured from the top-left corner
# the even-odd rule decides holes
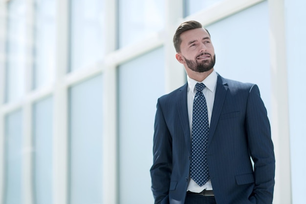
[[[207,141],[209,132],[208,113],[205,97],[202,90],[203,83],[197,83],[197,93],[194,99],[192,114],[192,142],[190,177],[199,185],[204,185],[209,180],[207,166]]]

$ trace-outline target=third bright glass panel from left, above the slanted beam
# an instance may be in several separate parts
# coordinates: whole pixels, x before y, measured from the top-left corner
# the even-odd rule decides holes
[[[70,0],[70,69],[104,58],[104,0]]]

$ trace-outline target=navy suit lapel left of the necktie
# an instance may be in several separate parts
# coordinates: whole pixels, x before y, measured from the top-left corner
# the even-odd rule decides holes
[[[191,154],[191,138],[190,138],[190,127],[189,127],[189,119],[188,119],[188,108],[187,108],[187,87],[186,83],[182,86],[177,95],[177,112],[179,115],[179,120],[182,125],[182,129],[184,131],[185,142],[187,145],[187,149],[189,154]]]

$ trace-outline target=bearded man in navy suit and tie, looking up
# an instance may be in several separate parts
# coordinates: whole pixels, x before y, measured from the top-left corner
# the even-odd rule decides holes
[[[155,204],[271,204],[275,158],[258,86],[216,73],[210,34],[197,21],[179,25],[174,45],[188,76],[157,101]]]

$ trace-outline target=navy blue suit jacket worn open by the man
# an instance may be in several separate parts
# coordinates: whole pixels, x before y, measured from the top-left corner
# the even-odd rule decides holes
[[[185,201],[191,158],[187,86],[157,101],[150,170],[155,204]],[[218,75],[207,162],[218,204],[272,203],[274,150],[256,84]]]

